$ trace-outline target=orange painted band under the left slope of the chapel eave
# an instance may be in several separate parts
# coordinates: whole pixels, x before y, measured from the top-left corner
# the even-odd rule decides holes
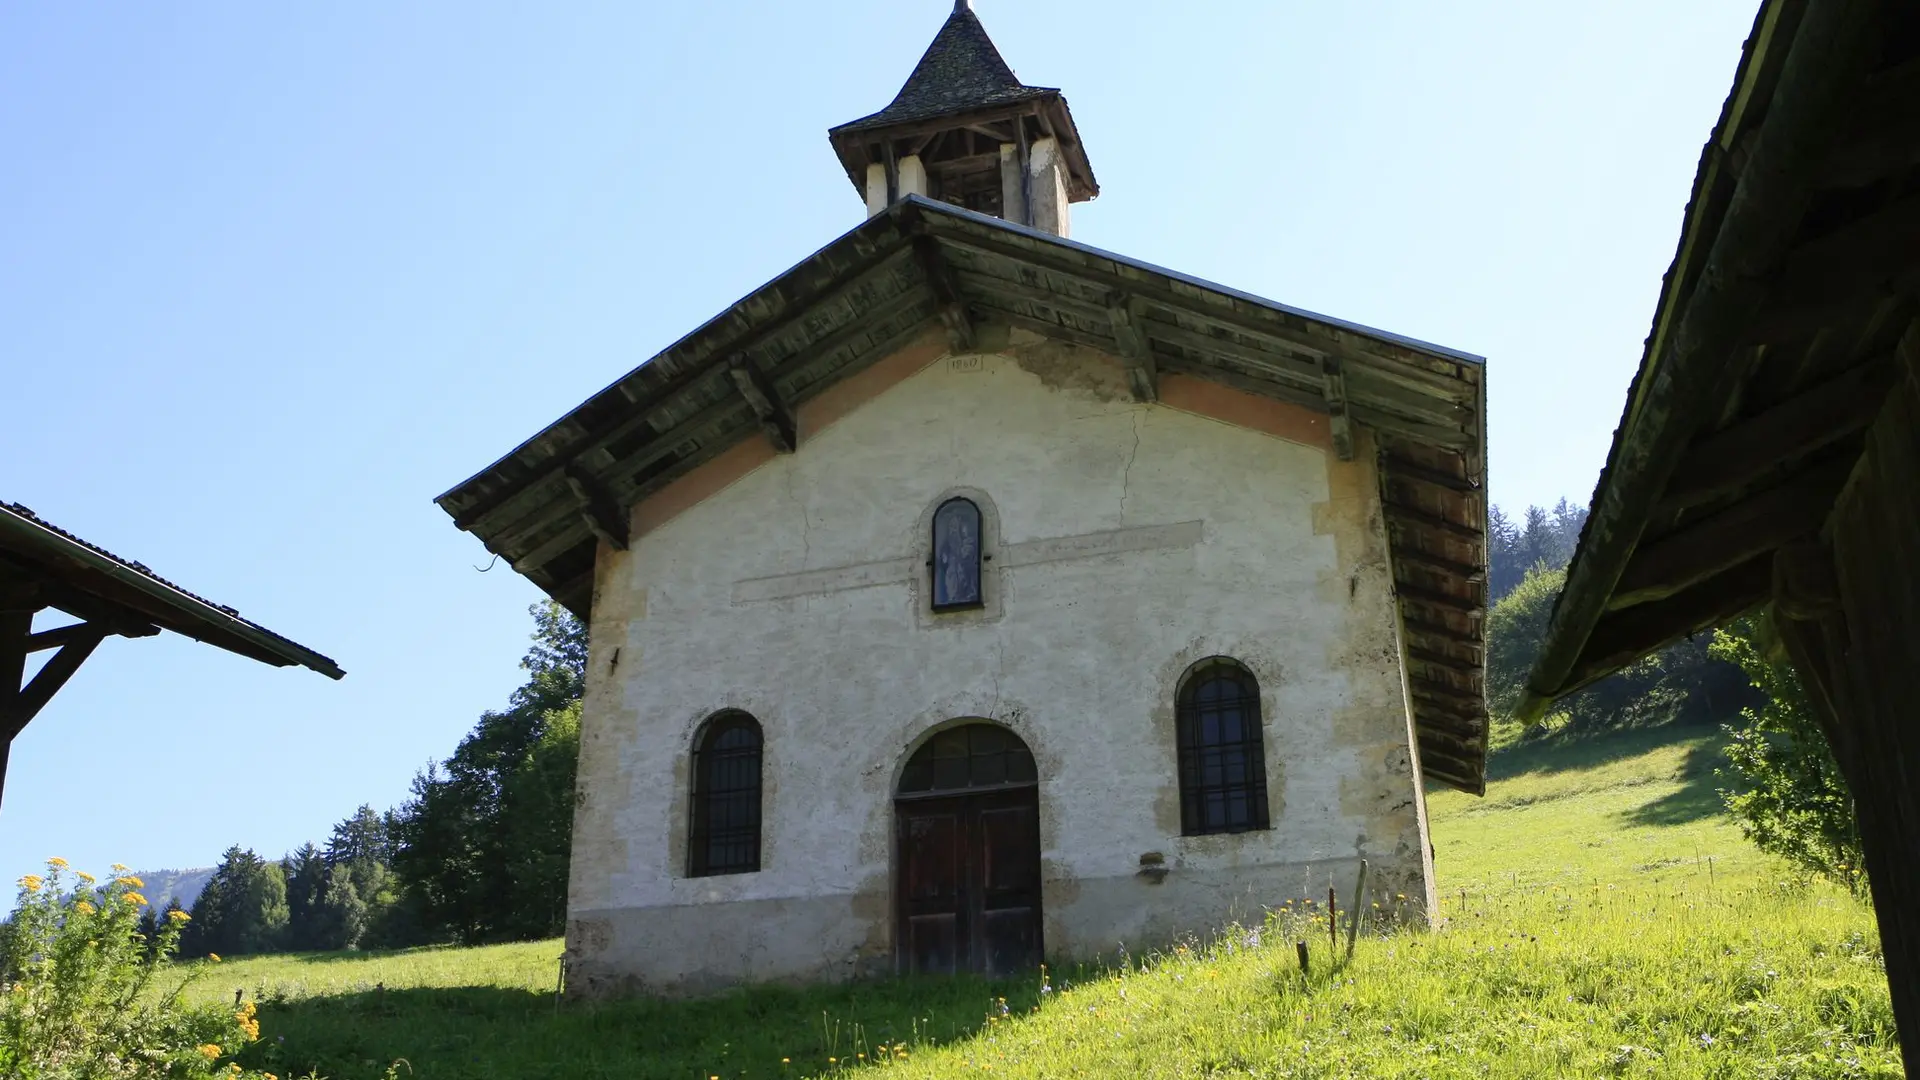
[[[845,419],[860,405],[899,386],[945,354],[947,342],[941,332],[929,332],[864,371],[841,379],[818,396],[801,402],[799,415],[795,415],[801,440],[799,452],[804,454],[810,438],[833,427],[833,423]],[[639,540],[778,455],[774,446],[760,434],[741,438],[722,450],[712,461],[697,465],[685,477],[634,503],[634,515],[628,519],[632,538]]]

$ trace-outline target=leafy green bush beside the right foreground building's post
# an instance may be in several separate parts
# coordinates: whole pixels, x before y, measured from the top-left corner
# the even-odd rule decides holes
[[[1799,675],[1784,657],[1768,655],[1768,638],[1763,619],[1743,619],[1713,640],[1713,653],[1738,665],[1764,696],[1757,709],[1741,709],[1743,726],[1726,728],[1726,759],[1738,784],[1720,798],[1763,851],[1860,892],[1866,855],[1853,794]]]

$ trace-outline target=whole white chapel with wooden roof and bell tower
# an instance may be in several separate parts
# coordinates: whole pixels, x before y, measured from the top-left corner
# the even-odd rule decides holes
[[[1071,240],[966,0],[829,144],[862,223],[438,500],[589,625],[568,990],[1004,974],[1363,863],[1427,920],[1482,357]]]

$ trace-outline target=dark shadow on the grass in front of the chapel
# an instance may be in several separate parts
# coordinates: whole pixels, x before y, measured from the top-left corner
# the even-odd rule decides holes
[[[829,1057],[872,1061],[881,1043],[912,1049],[968,1038],[1002,997],[1008,1013],[1027,1013],[1039,1001],[1039,976],[753,988],[693,1001],[574,1003],[501,988],[357,992],[263,1003],[261,1042],[240,1061],[330,1080],[382,1078],[399,1061],[401,1078],[801,1076],[829,1068]]]

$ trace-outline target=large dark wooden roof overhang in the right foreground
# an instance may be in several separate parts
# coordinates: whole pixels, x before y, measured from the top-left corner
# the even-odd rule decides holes
[[[1920,379],[1920,10],[1768,0],[1521,717],[1768,600],[1895,379]]]

